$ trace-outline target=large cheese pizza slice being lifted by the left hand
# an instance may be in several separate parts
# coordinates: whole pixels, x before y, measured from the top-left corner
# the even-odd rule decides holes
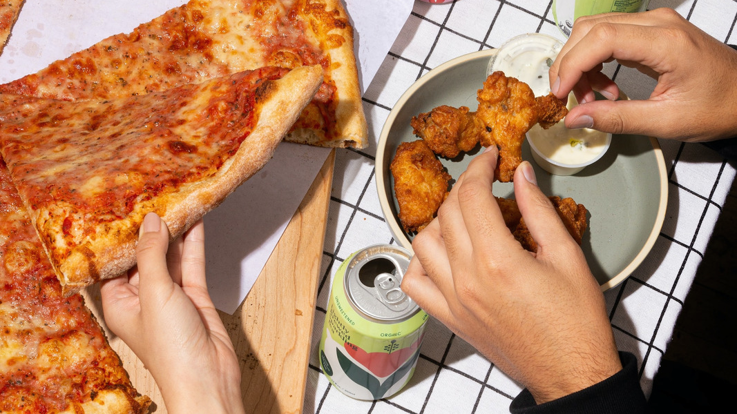
[[[0,94],[0,154],[64,292],[132,267],[148,212],[174,239],[254,175],[321,73],[267,67],[105,101]]]

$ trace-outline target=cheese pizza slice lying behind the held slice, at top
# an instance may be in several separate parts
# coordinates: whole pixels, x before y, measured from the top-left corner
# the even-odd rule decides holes
[[[262,66],[319,65],[324,82],[287,141],[366,147],[353,29],[340,0],[191,0],[0,91],[110,99]]]

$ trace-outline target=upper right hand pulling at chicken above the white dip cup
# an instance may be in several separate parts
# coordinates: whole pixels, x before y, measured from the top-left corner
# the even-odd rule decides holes
[[[657,80],[646,100],[622,100],[602,63],[617,60]],[[569,128],[710,141],[737,133],[737,52],[671,9],[576,19],[551,66],[551,91],[579,105]],[[595,101],[593,91],[608,100]]]

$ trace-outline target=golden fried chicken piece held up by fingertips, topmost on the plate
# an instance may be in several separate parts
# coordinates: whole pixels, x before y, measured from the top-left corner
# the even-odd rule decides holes
[[[537,122],[537,104],[532,89],[514,77],[495,71],[478,90],[478,116],[488,127],[481,145],[499,148],[499,162],[495,177],[509,182],[514,169],[522,162],[522,142],[525,133]],[[491,129],[490,132],[486,132]]]

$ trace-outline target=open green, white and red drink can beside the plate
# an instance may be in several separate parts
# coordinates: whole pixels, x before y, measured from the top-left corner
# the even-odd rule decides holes
[[[333,278],[319,357],[323,373],[354,399],[383,399],[412,377],[427,313],[401,289],[411,253],[373,245],[353,253]]]

